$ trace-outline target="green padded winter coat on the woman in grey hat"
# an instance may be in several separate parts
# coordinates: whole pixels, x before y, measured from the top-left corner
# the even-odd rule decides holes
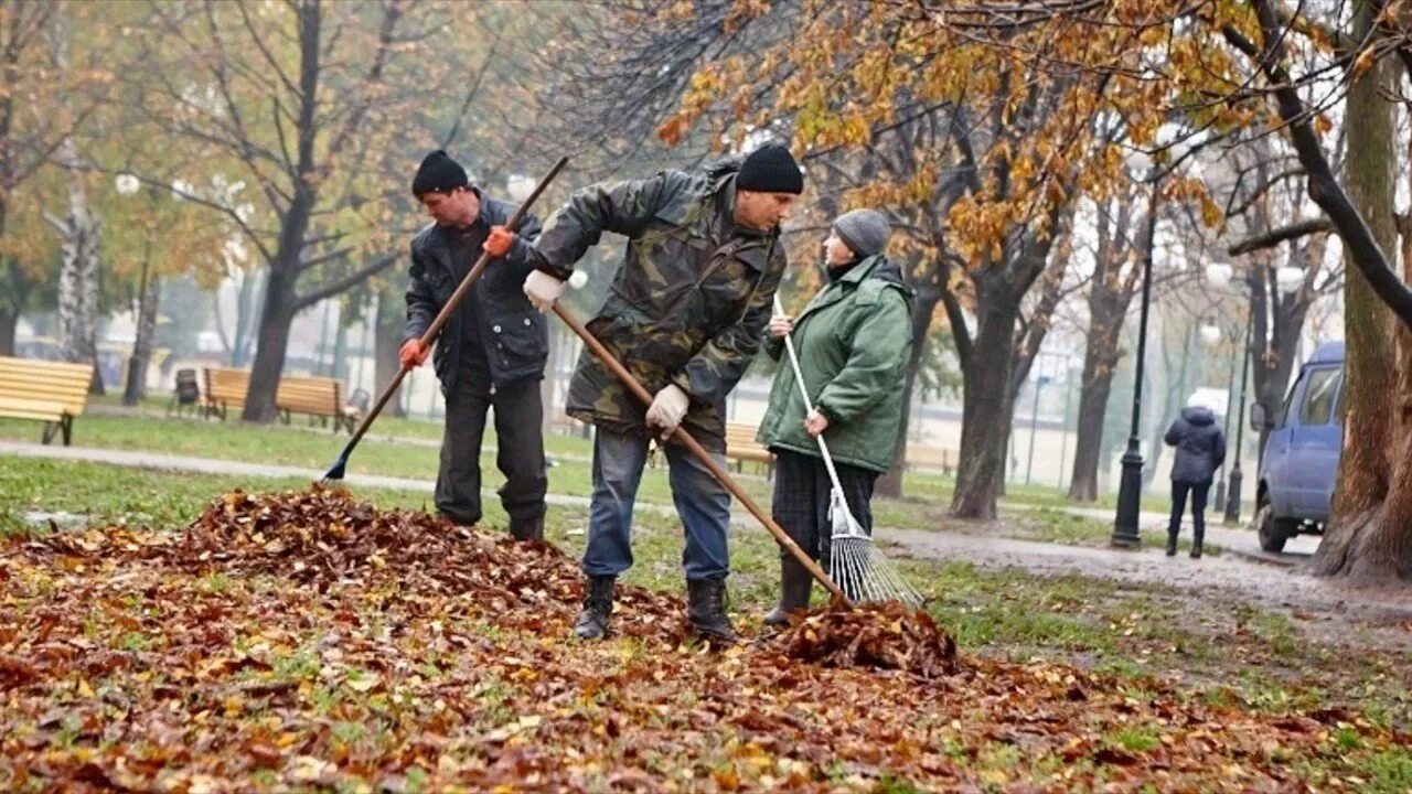
[[[830,283],[795,319],[795,352],[805,387],[829,417],[823,439],[839,463],[885,472],[902,422],[902,383],[912,352],[912,291],[897,266],[873,256]],[[765,340],[779,360],[758,441],[819,458],[803,429],[805,407],[782,339]]]

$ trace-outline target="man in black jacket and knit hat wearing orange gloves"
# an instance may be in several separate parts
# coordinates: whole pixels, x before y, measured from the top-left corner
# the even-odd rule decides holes
[[[436,510],[457,524],[480,520],[480,441],[486,411],[496,410],[498,454],[505,475],[500,502],[517,540],[544,538],[544,459],[539,380],[549,352],[541,315],[521,285],[532,270],[528,253],[539,222],[527,215],[517,235],[496,233],[514,208],[481,194],[445,151],[422,160],[412,195],[435,220],[412,239],[411,285],[402,366],[418,366],[428,350],[421,336],[474,266],[481,250],[496,256],[436,338],[436,377],[446,397]]]

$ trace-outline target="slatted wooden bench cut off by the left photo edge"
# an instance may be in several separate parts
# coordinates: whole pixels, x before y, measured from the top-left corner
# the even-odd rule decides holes
[[[0,417],[44,422],[41,441],[73,441],[73,418],[88,407],[93,365],[0,356]]]

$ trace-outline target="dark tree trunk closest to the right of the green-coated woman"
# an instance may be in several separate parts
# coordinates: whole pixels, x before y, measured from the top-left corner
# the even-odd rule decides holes
[[[979,300],[977,304],[984,309],[964,370],[962,449],[952,514],[993,520],[1005,478],[1005,445],[1014,415],[1010,376],[1014,369],[1019,307],[1014,300],[998,294]]]

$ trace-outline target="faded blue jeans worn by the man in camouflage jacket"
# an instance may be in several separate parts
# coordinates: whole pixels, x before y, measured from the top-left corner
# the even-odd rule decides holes
[[[617,576],[633,567],[633,503],[647,465],[647,438],[597,428],[593,438],[593,502],[583,572]],[[730,492],[686,448],[668,444],[672,502],[686,528],[682,568],[688,579],[724,579],[730,574]],[[716,455],[724,468],[726,456]]]

